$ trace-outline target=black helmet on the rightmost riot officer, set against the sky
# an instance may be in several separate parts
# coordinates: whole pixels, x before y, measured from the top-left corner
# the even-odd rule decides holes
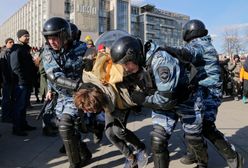
[[[200,20],[190,20],[183,27],[183,40],[189,42],[197,37],[208,34],[204,23]]]

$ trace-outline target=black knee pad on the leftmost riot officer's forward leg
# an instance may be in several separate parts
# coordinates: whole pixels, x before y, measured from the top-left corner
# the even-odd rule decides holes
[[[69,114],[62,114],[59,122],[59,133],[63,140],[71,139],[75,135],[74,121]]]

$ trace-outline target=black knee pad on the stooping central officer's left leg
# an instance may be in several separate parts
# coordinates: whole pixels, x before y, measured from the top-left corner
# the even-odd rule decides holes
[[[151,132],[151,145],[154,153],[162,153],[167,151],[169,135],[160,125],[154,125]]]

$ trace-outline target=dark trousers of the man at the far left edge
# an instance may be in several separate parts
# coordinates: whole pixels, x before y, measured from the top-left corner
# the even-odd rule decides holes
[[[11,109],[11,93],[12,86],[10,83],[3,83],[3,98],[2,98],[2,120],[12,119]]]

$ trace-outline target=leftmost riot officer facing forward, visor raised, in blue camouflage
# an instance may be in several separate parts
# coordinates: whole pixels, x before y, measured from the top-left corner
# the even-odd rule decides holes
[[[70,24],[63,18],[52,17],[43,25],[46,45],[42,60],[48,78],[47,99],[52,91],[58,93],[56,114],[59,118],[59,132],[65,145],[70,168],[85,164],[92,155],[86,144],[80,141],[75,127],[78,109],[73,102],[73,92],[81,82],[83,55],[86,45],[73,44]],[[81,154],[81,155],[80,155]]]

